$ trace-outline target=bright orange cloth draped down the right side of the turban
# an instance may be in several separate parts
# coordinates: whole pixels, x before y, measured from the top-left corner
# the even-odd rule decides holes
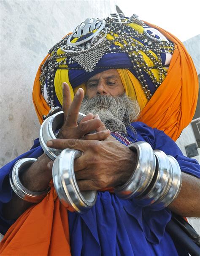
[[[195,114],[198,77],[192,58],[181,41],[164,29],[154,28],[173,41],[176,48],[165,80],[143,109],[139,121],[165,131],[176,141]]]

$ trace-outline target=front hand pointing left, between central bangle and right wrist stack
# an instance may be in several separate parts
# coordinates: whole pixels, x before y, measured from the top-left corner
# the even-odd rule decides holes
[[[47,145],[83,152],[74,161],[76,181],[82,191],[121,186],[130,178],[137,159],[136,153],[112,136],[104,141],[53,139]]]

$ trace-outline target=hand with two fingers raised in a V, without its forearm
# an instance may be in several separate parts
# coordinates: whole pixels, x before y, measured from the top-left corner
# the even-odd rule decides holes
[[[70,88],[67,83],[62,84],[63,87],[63,105],[64,123],[59,131],[58,138],[61,139],[106,139],[110,132],[102,124],[100,118],[93,114],[87,114],[80,124],[77,124],[78,111],[84,98],[84,90],[79,88],[71,102]],[[88,134],[96,130],[96,134]],[[87,134],[87,135],[86,135]]]

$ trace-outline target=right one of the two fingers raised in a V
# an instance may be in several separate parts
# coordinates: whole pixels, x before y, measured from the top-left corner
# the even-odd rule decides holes
[[[66,118],[65,125],[70,127],[77,126],[78,112],[81,107],[83,98],[84,98],[84,90],[82,88],[79,88],[74,96],[74,99],[73,99],[73,102],[71,103],[70,108],[68,109],[68,115]]]

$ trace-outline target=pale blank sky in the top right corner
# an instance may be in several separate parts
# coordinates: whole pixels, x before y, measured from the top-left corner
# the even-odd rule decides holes
[[[137,14],[181,41],[200,34],[199,0],[115,0],[115,3],[125,16]]]

